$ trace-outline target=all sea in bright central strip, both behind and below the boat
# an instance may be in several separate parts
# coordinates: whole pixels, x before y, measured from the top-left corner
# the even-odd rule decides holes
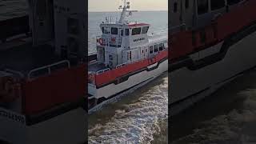
[[[89,13],[89,54],[94,54],[99,24],[120,13]],[[131,20],[150,23],[149,33],[167,34],[167,11],[134,13]],[[89,143],[167,143],[168,76],[126,95],[89,118]]]

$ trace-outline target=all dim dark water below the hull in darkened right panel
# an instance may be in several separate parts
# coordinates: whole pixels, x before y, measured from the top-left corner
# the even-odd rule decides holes
[[[256,70],[171,118],[174,144],[256,143]]]

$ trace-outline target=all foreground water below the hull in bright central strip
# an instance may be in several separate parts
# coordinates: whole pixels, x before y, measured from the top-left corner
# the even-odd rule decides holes
[[[167,143],[168,78],[90,115],[89,143]]]

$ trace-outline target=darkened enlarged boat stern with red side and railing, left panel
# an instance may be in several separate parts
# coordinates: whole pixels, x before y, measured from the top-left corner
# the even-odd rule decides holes
[[[0,142],[86,142],[86,3],[33,0],[0,22]]]

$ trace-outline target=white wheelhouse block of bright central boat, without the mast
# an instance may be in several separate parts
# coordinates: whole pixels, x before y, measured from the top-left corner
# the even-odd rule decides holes
[[[138,60],[139,49],[149,42],[147,32],[150,28],[145,23],[105,24],[100,25],[102,36],[98,37],[98,61],[113,68],[125,62]],[[144,48],[145,49],[145,48]],[[143,50],[144,53],[144,50]]]

